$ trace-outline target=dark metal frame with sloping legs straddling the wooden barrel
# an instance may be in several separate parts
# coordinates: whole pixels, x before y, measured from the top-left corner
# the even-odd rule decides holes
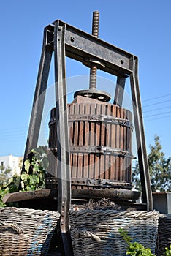
[[[42,56],[39,64],[37,85],[34,94],[31,120],[28,129],[28,139],[24,159],[31,148],[37,147],[42,112],[45,102],[45,90],[50,70],[50,62],[54,52],[55,82],[56,82],[56,127],[58,147],[58,211],[61,213],[61,234],[66,255],[72,255],[69,247],[68,211],[71,201],[70,164],[69,164],[69,127],[66,102],[66,66],[65,57],[75,59],[91,67],[92,59],[99,63],[100,69],[117,76],[114,103],[122,105],[125,80],[130,78],[134,112],[134,126],[137,138],[137,154],[140,165],[142,184],[142,203],[146,210],[151,211],[152,193],[148,170],[148,158],[145,146],[145,134],[142,121],[142,107],[138,82],[137,56],[110,45],[91,34],[76,29],[61,20],[45,27],[42,45]],[[90,63],[88,64],[88,59]],[[41,100],[39,99],[39,96]],[[56,159],[57,161],[57,159]],[[57,170],[56,170],[57,173]],[[66,246],[65,246],[66,245]]]

